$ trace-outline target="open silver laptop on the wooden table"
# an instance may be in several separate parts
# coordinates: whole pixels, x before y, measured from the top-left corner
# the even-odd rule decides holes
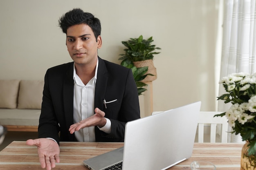
[[[129,121],[124,147],[83,161],[91,170],[165,170],[192,155],[201,102]]]

